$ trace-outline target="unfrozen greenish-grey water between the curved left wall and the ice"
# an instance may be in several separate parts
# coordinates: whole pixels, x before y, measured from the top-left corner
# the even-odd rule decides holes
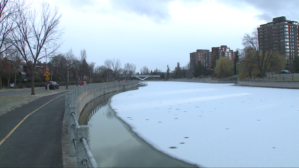
[[[196,167],[155,150],[132,132],[109,105],[114,94],[96,99],[85,120],[98,167]]]

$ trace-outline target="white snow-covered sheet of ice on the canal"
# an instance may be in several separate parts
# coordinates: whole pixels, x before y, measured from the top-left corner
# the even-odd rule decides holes
[[[199,166],[299,167],[297,89],[148,82],[110,105],[153,147]]]

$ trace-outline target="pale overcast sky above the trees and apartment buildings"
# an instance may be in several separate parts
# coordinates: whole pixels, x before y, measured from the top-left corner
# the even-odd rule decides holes
[[[272,18],[299,21],[298,0],[45,0],[62,13],[61,53],[70,48],[95,66],[119,58],[136,71],[162,72],[185,66],[190,53],[227,45],[242,47],[242,36]],[[34,5],[41,2],[34,1]],[[36,6],[38,7],[38,6]]]

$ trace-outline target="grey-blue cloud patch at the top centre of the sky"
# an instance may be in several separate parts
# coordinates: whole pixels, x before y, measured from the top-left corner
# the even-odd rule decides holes
[[[171,19],[169,3],[172,0],[111,0],[113,8],[161,23]]]

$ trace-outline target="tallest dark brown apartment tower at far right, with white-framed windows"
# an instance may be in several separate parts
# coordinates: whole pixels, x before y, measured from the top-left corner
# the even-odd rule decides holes
[[[272,22],[262,24],[257,28],[259,50],[273,50],[286,57],[286,69],[299,56],[298,21],[286,20],[285,16],[273,18]]]

